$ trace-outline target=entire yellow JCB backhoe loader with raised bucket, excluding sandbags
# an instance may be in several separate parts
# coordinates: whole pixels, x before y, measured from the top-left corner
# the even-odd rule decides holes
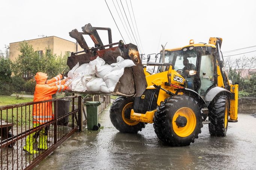
[[[222,38],[210,38],[208,44],[190,40],[188,46],[163,47],[159,62],[148,62],[143,67],[137,46],[112,43],[110,28],[87,24],[82,30],[70,33],[84,49],[83,54],[76,52],[69,57],[70,69],[77,62],[88,63],[97,56],[108,64],[116,62],[117,56],[136,64],[125,68],[114,92],[107,94],[120,96],[110,109],[111,122],[120,132],[137,133],[145,124],[154,123],[155,133],[164,143],[188,146],[198,138],[203,124],[209,124],[211,135],[225,136],[228,122],[238,121],[238,84],[230,83],[225,73]],[[108,45],[103,46],[96,30],[108,30]],[[83,34],[90,35],[95,47],[89,49]],[[148,72],[147,66],[156,67],[156,72]]]

